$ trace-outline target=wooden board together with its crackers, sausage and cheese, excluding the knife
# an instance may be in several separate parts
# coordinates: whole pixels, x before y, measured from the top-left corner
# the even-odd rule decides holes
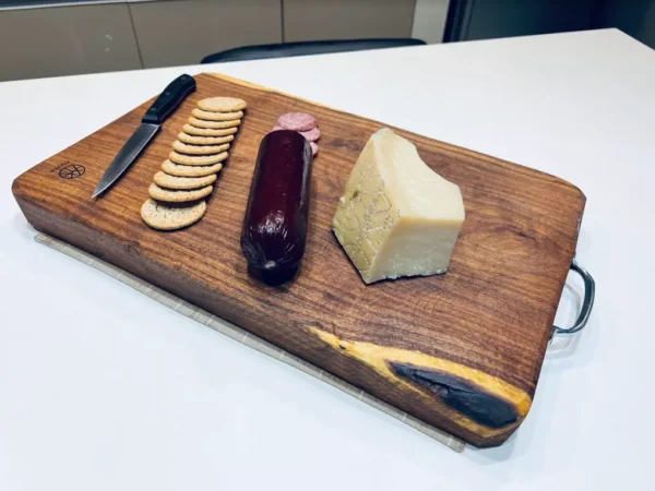
[[[429,424],[504,442],[532,405],[582,192],[247,82],[195,82],[99,197],[152,100],[19,177],[27,219]]]

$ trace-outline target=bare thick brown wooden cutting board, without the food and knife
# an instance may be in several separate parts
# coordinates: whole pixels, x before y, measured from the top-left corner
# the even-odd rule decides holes
[[[29,223],[474,445],[505,441],[532,404],[583,193],[394,129],[460,185],[466,221],[445,275],[367,286],[331,220],[360,151],[385,124],[225,76],[195,80],[198,91],[99,200],[92,191],[152,100],[19,177],[13,193]],[[155,231],[140,216],[147,188],[195,103],[210,96],[248,103],[230,157],[200,223]],[[287,111],[317,116],[321,151],[301,274],[269,287],[248,276],[239,236],[259,143]]]

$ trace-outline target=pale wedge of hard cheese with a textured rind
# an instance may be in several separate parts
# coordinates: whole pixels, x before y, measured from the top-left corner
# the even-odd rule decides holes
[[[366,283],[445,273],[464,223],[460,188],[384,128],[359,155],[332,220]]]

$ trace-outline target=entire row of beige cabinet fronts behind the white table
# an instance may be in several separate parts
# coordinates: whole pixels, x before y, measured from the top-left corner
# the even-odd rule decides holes
[[[432,1],[437,0],[418,3]],[[448,4],[448,0],[438,1]],[[0,81],[194,64],[213,52],[248,45],[410,37],[417,2],[71,0],[46,7],[35,3],[0,2]],[[419,37],[428,33],[440,38],[440,31],[432,26],[436,16],[426,14],[428,10],[417,10],[422,12]]]

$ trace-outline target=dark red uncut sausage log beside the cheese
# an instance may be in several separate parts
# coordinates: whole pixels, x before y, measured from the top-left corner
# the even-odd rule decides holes
[[[311,147],[296,131],[265,135],[241,231],[250,274],[270,285],[291,279],[305,254],[311,180]]]

